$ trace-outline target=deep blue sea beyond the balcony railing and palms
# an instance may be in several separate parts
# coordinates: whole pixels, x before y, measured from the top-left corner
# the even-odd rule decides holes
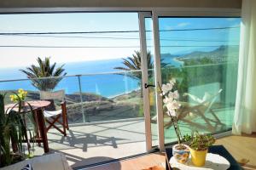
[[[170,63],[170,59],[168,59]],[[172,60],[172,65],[180,65],[177,61]],[[102,72],[119,71],[113,69],[122,65],[122,59],[94,60],[79,63],[67,63],[64,65],[67,75],[84,75],[81,76],[81,90],[83,93],[100,94],[104,97],[111,98],[119,94],[126,94],[140,88],[140,81],[133,77],[119,74],[99,74]],[[26,78],[24,73],[20,72],[24,68],[0,68],[0,80],[15,80]],[[16,90],[23,88],[26,90],[37,91],[29,80],[15,82],[0,82],[0,90]],[[79,78],[64,77],[57,85],[55,90],[65,89],[66,94],[79,93]]]

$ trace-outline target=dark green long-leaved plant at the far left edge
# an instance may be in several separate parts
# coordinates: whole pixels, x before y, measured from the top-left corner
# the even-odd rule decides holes
[[[26,158],[25,150],[22,146],[23,141],[27,139],[27,129],[24,122],[25,115],[20,112],[21,100],[18,94],[15,95],[17,95],[18,103],[5,110],[5,95],[0,94],[0,167],[8,166]],[[34,126],[32,115],[29,113],[26,115]],[[30,148],[28,148],[28,152],[30,155]]]

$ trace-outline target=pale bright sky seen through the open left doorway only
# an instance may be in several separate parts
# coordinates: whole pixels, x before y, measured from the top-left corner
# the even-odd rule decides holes
[[[0,32],[138,31],[137,13],[0,14],[0,23]],[[31,65],[37,57],[51,57],[51,60],[57,63],[125,58],[133,54],[134,50],[138,50],[140,44],[139,39],[108,38],[138,38],[138,32],[61,36],[0,36],[0,46],[107,46],[113,48],[0,48],[0,68]],[[119,46],[132,48],[115,48]]]

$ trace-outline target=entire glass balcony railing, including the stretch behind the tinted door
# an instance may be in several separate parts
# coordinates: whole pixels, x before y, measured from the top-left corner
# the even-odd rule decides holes
[[[227,69],[228,67],[229,69]],[[206,92],[213,94],[220,88],[224,89],[217,101],[221,105],[232,106],[235,105],[236,99],[236,83],[234,83],[236,82],[236,74],[234,74],[236,69],[236,63],[166,66],[162,68],[162,80],[166,82],[172,77],[176,77],[177,81],[183,83],[178,89],[181,94],[190,93],[201,97]],[[61,78],[61,82],[53,90],[65,90],[70,124],[120,121],[129,118],[143,118],[141,75],[142,71],[115,71],[65,77],[2,80],[0,81],[0,92],[8,94],[5,99],[6,104],[11,103],[9,94],[19,88],[28,91],[26,100],[37,100],[40,99],[39,90],[32,86],[32,80],[47,82]],[[233,77],[231,82],[230,77],[226,79],[228,75]],[[151,83],[154,82],[153,77],[148,80]],[[150,93],[150,95],[150,100],[154,100],[154,93]],[[189,101],[184,98],[181,100]],[[154,116],[154,102],[150,101],[150,104],[151,115]],[[56,105],[56,107],[58,106]]]

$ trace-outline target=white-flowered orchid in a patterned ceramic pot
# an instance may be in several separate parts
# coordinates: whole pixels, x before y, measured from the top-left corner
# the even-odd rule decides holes
[[[166,107],[167,115],[171,117],[172,125],[175,133],[177,134],[177,144],[172,146],[172,155],[179,163],[185,163],[189,159],[189,146],[183,144],[182,134],[180,132],[177,120],[177,109],[180,108],[180,104],[177,99],[179,98],[177,90],[174,91],[173,87],[176,84],[176,80],[172,79],[170,82],[163,84],[160,88],[160,94],[163,96],[164,107]]]

